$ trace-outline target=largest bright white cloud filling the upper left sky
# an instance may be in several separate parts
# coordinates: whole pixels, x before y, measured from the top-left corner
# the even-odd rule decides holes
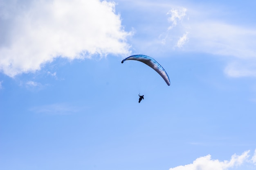
[[[40,70],[56,57],[128,54],[115,3],[100,0],[51,0],[0,5],[0,71],[8,76]]]

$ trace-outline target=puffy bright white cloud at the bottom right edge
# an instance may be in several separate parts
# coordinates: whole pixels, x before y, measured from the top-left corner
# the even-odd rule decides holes
[[[200,157],[193,161],[193,163],[185,166],[177,166],[169,170],[228,170],[236,166],[241,166],[248,162],[249,150],[242,155],[232,155],[230,161],[219,161],[218,159],[211,159],[211,155]]]

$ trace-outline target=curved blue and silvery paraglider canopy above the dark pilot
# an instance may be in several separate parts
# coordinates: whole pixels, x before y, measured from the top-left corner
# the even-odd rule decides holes
[[[145,63],[149,67],[153,68],[166,82],[167,85],[171,85],[170,79],[164,68],[155,61],[152,57],[146,56],[146,55],[132,55],[130,57],[127,57],[124,59],[121,63],[124,63],[126,60],[136,60],[141,61],[142,63]]]

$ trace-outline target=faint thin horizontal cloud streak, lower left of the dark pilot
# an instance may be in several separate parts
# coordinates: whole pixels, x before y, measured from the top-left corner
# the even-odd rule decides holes
[[[82,110],[81,107],[69,105],[66,103],[55,103],[51,105],[36,106],[29,109],[35,113],[51,114],[51,115],[66,115],[76,113]]]

